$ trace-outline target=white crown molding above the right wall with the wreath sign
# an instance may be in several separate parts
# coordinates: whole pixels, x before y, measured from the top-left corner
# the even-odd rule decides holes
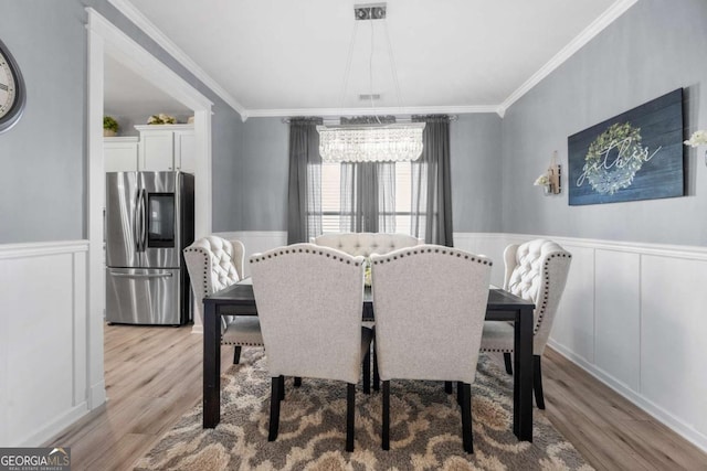
[[[639,0],[618,0],[601,17],[594,20],[589,26],[587,26],[579,35],[577,35],[569,44],[560,50],[550,61],[547,62],[538,72],[532,74],[523,85],[520,85],[508,98],[504,100],[498,107],[499,115],[503,117],[506,110],[516,103],[521,96],[530,92],[532,87],[538,85],[545,77],[550,75],[557,67],[562,65],[564,61],[570,58],[577,51],[582,49],[584,44],[590,42],[597,34],[602,32],[606,26],[613,23],[619,17],[621,17],[626,10],[633,7]]]

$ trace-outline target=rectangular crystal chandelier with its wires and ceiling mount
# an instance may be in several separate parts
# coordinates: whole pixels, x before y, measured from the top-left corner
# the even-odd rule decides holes
[[[357,21],[371,22],[371,60],[373,53],[373,20],[386,19],[386,3],[354,6],[354,13]],[[388,38],[388,35],[386,35]],[[347,75],[351,64],[354,51],[354,40],[356,28],[351,36],[351,46],[347,63]],[[388,38],[388,51],[390,52],[391,65],[392,47]],[[394,67],[393,79],[400,99],[400,85]],[[373,74],[369,71],[371,108],[373,104]],[[342,95],[346,94],[346,83]],[[342,97],[344,99],[344,97]],[[338,125],[317,126],[319,132],[319,154],[325,162],[399,162],[416,160],[422,154],[422,130],[424,122],[401,122],[401,124],[366,124],[366,125]]]

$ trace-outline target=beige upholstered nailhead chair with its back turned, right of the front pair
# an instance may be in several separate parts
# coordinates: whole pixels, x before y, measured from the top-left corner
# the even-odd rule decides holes
[[[372,255],[376,350],[383,382],[382,448],[390,446],[390,381],[458,384],[464,450],[474,452],[471,384],[488,300],[492,263],[436,245]],[[419,352],[414,345],[433,345]]]

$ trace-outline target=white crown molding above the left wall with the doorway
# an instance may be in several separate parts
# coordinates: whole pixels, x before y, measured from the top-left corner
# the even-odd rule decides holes
[[[231,94],[229,94],[217,81],[211,78],[203,68],[192,61],[187,53],[177,46],[169,38],[165,35],[151,21],[147,19],[129,0],[108,0],[120,13],[130,20],[137,28],[155,41],[160,47],[167,51],[177,62],[179,62],[187,71],[189,71],[201,83],[208,86],[221,99],[223,99],[231,108],[235,109],[241,119],[247,119],[247,110]]]

